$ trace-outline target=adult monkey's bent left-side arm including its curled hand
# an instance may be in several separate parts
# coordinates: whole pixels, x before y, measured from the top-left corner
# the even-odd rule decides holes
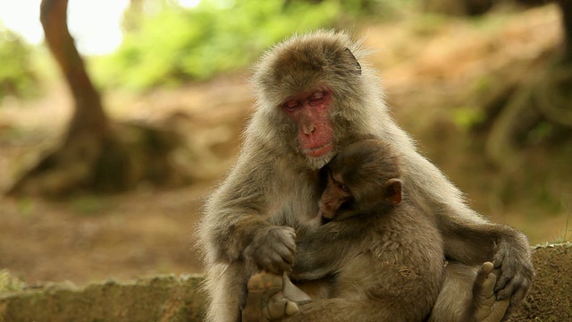
[[[206,202],[198,233],[209,262],[246,261],[275,274],[290,269],[294,230],[271,225],[265,216],[272,168],[243,157]]]

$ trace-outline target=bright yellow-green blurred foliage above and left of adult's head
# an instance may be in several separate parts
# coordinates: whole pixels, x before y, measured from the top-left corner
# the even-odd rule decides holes
[[[295,32],[330,28],[342,17],[371,12],[375,0],[203,0],[184,9],[165,5],[141,14],[114,55],[94,61],[106,87],[148,89],[205,80],[251,64],[273,43]]]

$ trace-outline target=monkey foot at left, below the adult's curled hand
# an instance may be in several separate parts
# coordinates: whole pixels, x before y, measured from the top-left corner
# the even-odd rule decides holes
[[[242,309],[242,322],[260,322],[284,318],[299,312],[296,302],[282,294],[281,275],[257,273],[248,279],[247,302]]]

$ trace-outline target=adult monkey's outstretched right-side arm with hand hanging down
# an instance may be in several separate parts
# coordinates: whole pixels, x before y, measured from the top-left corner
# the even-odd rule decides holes
[[[400,144],[410,143],[405,132],[392,125],[396,127],[393,131],[401,135],[398,136]],[[405,185],[409,185],[411,197],[422,200],[429,213],[436,216],[445,242],[445,255],[467,265],[481,266],[485,261],[493,261],[495,267],[501,268],[495,288],[502,290],[498,297],[512,295],[513,304],[521,301],[534,277],[526,236],[508,226],[488,223],[467,206],[462,193],[435,165],[415,148],[405,152]]]

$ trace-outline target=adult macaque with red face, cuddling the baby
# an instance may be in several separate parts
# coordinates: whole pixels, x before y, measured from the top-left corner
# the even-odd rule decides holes
[[[324,188],[318,169],[367,135],[399,152],[402,180],[409,195],[434,214],[446,258],[468,266],[492,261],[500,269],[497,298],[510,298],[513,305],[524,298],[534,275],[526,237],[467,207],[460,191],[391,119],[379,80],[358,63],[362,58],[364,51],[347,35],[319,31],[273,47],[257,65],[257,111],[236,165],[207,201],[198,227],[208,320],[238,321],[248,276],[258,270],[290,271],[296,229],[318,212]],[[328,301],[322,309],[339,314],[362,307],[358,301]],[[450,301],[440,305],[456,309]]]

